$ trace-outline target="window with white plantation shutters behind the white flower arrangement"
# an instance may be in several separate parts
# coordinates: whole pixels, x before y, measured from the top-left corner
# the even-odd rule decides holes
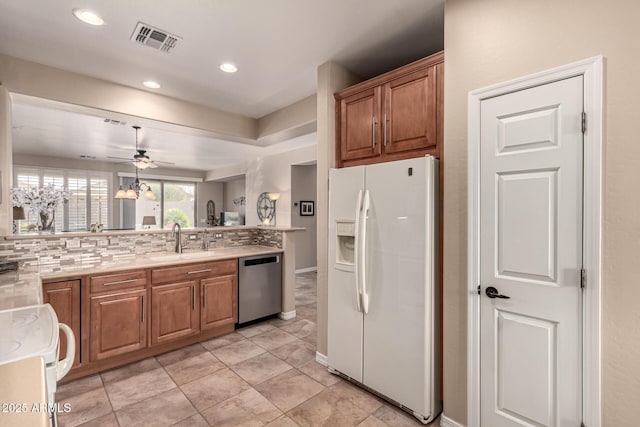
[[[27,166],[14,167],[14,186],[40,187],[51,185],[66,188],[69,201],[56,210],[56,230],[86,231],[94,223],[111,227],[111,181],[109,172],[44,169]],[[25,209],[27,218],[19,221],[20,232],[30,231],[36,223],[35,215]]]

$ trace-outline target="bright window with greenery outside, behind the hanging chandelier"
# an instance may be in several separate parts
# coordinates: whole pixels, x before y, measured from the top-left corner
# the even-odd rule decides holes
[[[194,182],[144,182],[156,195],[155,200],[140,197],[135,203],[135,225],[140,227],[145,216],[156,218],[157,228],[171,228],[174,223],[188,228],[196,226],[196,184]],[[155,227],[154,227],[155,228]]]

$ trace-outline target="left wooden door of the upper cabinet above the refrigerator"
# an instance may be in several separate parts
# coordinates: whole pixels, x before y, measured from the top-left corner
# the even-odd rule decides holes
[[[375,87],[340,100],[336,119],[343,161],[380,156],[380,94]]]

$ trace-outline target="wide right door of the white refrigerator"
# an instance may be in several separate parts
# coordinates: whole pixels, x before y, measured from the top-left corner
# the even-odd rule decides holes
[[[437,160],[367,167],[363,383],[429,418],[432,402]]]

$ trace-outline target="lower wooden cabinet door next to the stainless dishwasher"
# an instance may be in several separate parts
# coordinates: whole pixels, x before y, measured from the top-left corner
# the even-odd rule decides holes
[[[238,278],[222,276],[200,281],[202,330],[238,321]]]

